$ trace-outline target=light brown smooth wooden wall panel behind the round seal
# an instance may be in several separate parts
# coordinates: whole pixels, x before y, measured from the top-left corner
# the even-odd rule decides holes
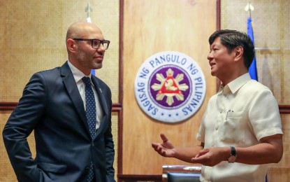
[[[123,29],[123,156],[122,174],[161,174],[165,164],[184,162],[162,158],[151,147],[164,132],[174,144],[199,144],[195,139],[206,103],[216,92],[210,76],[208,37],[216,29],[216,1],[213,0],[124,0]],[[166,124],[148,117],[134,95],[136,73],[143,62],[157,52],[178,51],[192,57],[203,70],[206,96],[201,109],[182,123]]]

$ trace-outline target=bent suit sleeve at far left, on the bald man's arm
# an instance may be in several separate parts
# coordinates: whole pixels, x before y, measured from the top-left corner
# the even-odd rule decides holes
[[[42,174],[32,158],[27,137],[41,122],[45,91],[43,76],[35,73],[24,87],[22,98],[3,129],[6,151],[19,181],[41,181]]]

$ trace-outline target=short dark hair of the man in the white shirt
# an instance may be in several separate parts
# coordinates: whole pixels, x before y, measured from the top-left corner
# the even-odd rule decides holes
[[[254,55],[254,43],[252,39],[244,32],[231,30],[231,29],[222,29],[215,31],[210,38],[208,39],[210,45],[215,41],[215,38],[219,37],[222,45],[226,46],[226,49],[231,52],[233,48],[237,46],[242,46],[244,53],[244,64],[249,69],[251,66]]]

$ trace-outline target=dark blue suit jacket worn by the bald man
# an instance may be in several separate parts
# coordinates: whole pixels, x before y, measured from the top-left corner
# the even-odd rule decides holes
[[[91,160],[96,181],[115,181],[111,92],[96,76],[92,76],[92,82],[104,112],[93,140],[67,62],[31,77],[3,130],[3,141],[19,181],[85,181]],[[35,159],[27,143],[33,130]]]

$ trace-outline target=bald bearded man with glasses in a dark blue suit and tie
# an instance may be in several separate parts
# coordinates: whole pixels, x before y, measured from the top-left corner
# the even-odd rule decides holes
[[[68,61],[27,83],[3,129],[18,181],[115,181],[111,92],[91,74],[101,69],[109,43],[96,25],[76,22],[66,34]],[[91,78],[94,104],[87,101],[83,77]],[[35,159],[27,143],[33,130]]]

